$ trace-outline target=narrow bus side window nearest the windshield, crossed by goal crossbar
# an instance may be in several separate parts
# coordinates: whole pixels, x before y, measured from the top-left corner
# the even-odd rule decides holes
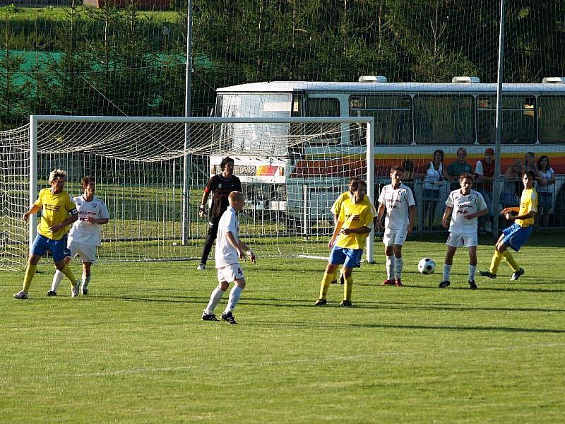
[[[309,98],[306,102],[306,117],[340,117],[340,102],[336,98]],[[340,124],[304,124],[304,134],[310,145],[339,144]]]

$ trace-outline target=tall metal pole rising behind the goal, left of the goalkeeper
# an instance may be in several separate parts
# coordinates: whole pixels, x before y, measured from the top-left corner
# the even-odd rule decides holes
[[[192,0],[186,11],[186,70],[184,75],[184,117],[191,116],[191,82],[192,82]],[[181,243],[186,246],[189,232],[189,209],[190,209],[190,146],[189,124],[184,124],[184,158],[182,172],[182,216],[181,216]]]

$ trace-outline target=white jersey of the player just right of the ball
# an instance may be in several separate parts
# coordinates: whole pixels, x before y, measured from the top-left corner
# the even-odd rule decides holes
[[[446,206],[453,208],[451,211],[451,222],[449,231],[458,235],[472,235],[477,233],[477,217],[467,219],[470,213],[479,213],[487,209],[482,194],[471,190],[467,196],[461,194],[461,190],[453,190],[446,200]]]

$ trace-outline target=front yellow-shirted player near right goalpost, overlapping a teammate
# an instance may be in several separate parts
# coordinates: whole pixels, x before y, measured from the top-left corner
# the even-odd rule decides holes
[[[367,184],[358,180],[352,183],[353,197],[345,199],[340,210],[338,224],[335,225],[328,247],[331,249],[330,259],[320,287],[320,298],[314,306],[326,305],[326,295],[330,287],[333,273],[338,265],[343,264],[343,301],[340,306],[352,306],[351,292],[353,285],[352,271],[359,267],[363,247],[367,235],[371,232],[373,225],[374,205],[366,195]]]

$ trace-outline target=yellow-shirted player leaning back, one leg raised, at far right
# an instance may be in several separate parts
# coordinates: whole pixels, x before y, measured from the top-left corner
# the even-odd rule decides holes
[[[532,233],[534,216],[537,213],[537,192],[533,188],[534,181],[535,174],[533,171],[523,173],[522,182],[524,189],[520,197],[518,215],[513,215],[513,213],[516,213],[515,208],[506,208],[502,211],[506,219],[514,221],[514,223],[509,228],[502,230],[499,240],[494,245],[494,255],[492,256],[490,268],[488,271],[479,271],[480,275],[496,278],[496,271],[498,271],[502,258],[506,260],[513,271],[510,278],[511,281],[518,280],[523,275],[524,270],[518,266],[508,247],[518,252]]]

